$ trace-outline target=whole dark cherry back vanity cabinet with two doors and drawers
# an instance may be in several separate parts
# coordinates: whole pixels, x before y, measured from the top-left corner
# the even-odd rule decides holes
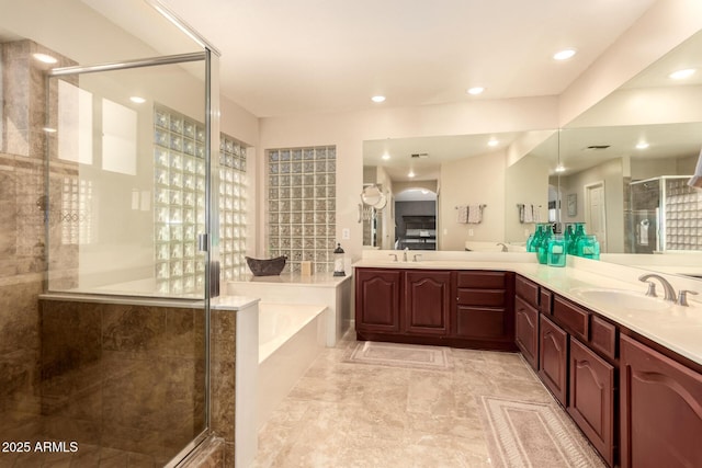
[[[356,269],[359,340],[516,351],[514,274]]]

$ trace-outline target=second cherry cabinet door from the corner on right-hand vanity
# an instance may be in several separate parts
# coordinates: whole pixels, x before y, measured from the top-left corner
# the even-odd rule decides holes
[[[565,407],[568,389],[568,334],[544,316],[540,316],[539,324],[539,376]]]

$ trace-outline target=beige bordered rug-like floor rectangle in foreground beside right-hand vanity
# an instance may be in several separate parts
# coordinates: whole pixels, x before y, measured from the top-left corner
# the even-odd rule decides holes
[[[495,467],[605,467],[555,404],[492,397],[482,400]]]

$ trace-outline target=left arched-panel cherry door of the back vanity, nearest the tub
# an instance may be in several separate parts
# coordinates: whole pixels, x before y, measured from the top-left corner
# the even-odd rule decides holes
[[[356,330],[399,332],[401,272],[356,269],[354,275]]]

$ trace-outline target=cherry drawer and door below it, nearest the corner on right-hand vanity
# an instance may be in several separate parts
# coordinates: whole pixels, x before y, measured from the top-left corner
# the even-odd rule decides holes
[[[514,279],[514,343],[524,359],[539,370],[539,285],[522,277]]]

